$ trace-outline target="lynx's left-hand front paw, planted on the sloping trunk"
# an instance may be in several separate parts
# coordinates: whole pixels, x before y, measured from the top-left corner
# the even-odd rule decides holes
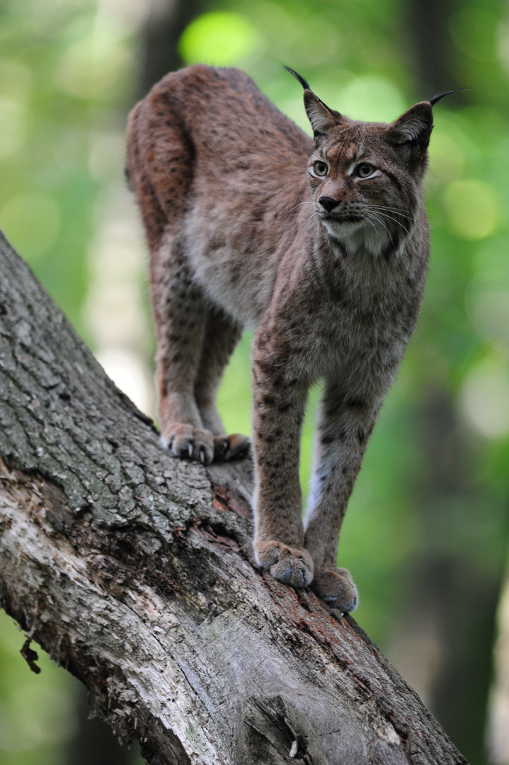
[[[282,542],[258,542],[254,545],[254,555],[274,579],[290,587],[307,587],[313,580],[313,558],[307,550],[288,547]]]

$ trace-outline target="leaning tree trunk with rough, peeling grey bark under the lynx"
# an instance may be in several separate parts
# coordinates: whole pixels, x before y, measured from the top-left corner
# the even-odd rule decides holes
[[[172,459],[3,238],[0,275],[0,602],[118,737],[157,765],[465,763],[351,617],[256,568],[250,463]]]

